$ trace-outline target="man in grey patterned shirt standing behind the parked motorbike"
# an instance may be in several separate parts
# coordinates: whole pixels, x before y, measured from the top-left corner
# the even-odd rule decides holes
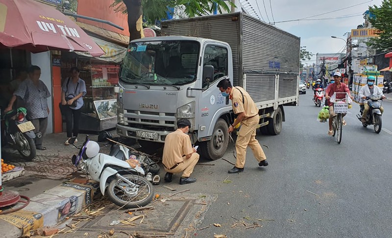
[[[25,102],[27,118],[35,127],[34,132],[41,132],[42,134],[41,138],[35,138],[35,147],[37,150],[45,151],[46,148],[42,146],[42,142],[48,127],[49,107],[47,98],[51,95],[48,87],[40,80],[40,77],[41,68],[32,65],[28,70],[28,78],[14,92],[8,107],[5,108],[5,112],[12,110],[17,96],[21,97]]]

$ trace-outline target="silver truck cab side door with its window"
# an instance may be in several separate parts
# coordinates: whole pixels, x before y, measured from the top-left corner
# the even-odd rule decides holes
[[[211,82],[205,82],[204,79],[201,80],[201,87],[206,90],[201,93],[201,100],[199,101],[200,110],[196,112],[197,121],[199,122],[199,138],[210,136],[208,135],[209,126],[211,125],[212,120],[214,120],[215,113],[220,108],[229,106],[229,102],[226,100],[227,98],[223,97],[217,88],[217,84],[221,78],[229,76],[228,52],[226,46],[216,43],[207,43],[204,47],[201,68],[205,65],[214,66],[214,77]],[[215,124],[213,124],[212,127],[214,127],[214,125]]]

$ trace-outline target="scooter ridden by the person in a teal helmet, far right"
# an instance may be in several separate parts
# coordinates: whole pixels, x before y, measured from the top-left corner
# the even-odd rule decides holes
[[[368,104],[369,111],[368,115],[366,115],[366,121],[362,122],[361,118],[364,113],[365,107],[361,105],[360,114],[357,114],[357,118],[362,122],[362,126],[368,127],[369,125],[374,126],[374,131],[376,133],[380,133],[382,127],[381,120],[381,106],[382,106],[382,97],[371,96],[366,97],[366,101],[364,103]]]

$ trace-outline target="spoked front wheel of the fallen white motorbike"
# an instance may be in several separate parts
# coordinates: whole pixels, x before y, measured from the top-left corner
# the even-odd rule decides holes
[[[115,178],[109,183],[107,193],[109,199],[122,208],[144,207],[152,201],[152,184],[144,177],[135,174],[122,175],[136,186],[132,188],[121,178]]]

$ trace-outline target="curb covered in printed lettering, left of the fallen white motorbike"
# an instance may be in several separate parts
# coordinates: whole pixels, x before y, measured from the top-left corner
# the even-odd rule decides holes
[[[36,229],[53,227],[91,204],[98,186],[96,182],[87,184],[64,182],[43,194],[30,198],[30,203],[22,211],[42,215],[39,221],[35,221],[40,224],[39,227],[35,227]],[[22,218],[13,214],[0,215],[0,238],[20,238],[24,235],[23,229],[14,225]],[[3,220],[4,217],[14,220],[14,224]]]

